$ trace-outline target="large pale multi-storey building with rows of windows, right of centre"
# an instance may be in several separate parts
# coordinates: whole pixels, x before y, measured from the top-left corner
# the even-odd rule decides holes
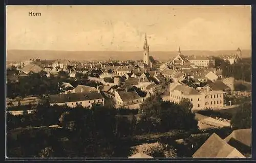
[[[193,104],[193,111],[205,108],[218,109],[224,106],[224,92],[222,91],[214,91],[209,87],[197,91],[179,83],[170,84],[170,101],[180,103],[183,98],[189,99]]]

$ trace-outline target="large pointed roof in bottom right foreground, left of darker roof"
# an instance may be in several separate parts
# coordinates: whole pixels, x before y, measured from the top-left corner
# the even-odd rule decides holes
[[[233,147],[228,145],[216,133],[205,141],[205,143],[194,153],[194,158],[225,158],[232,151]]]

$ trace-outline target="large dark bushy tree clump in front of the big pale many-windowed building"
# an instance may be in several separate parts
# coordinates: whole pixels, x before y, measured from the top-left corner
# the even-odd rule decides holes
[[[195,114],[191,113],[192,105],[184,99],[180,105],[163,101],[160,96],[152,96],[147,98],[140,105],[140,114],[144,115],[145,122],[156,123],[160,120],[160,125],[157,127],[158,131],[166,132],[170,129],[187,129],[195,130],[197,127],[197,120]],[[158,121],[155,121],[157,118]],[[154,126],[151,124],[151,126]]]

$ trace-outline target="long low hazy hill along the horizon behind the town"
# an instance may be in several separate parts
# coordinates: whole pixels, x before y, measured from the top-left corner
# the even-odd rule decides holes
[[[235,50],[220,51],[199,51],[186,50],[182,51],[184,55],[196,56],[219,56],[228,55]],[[151,51],[150,55],[155,60],[166,61],[177,55],[177,51]],[[244,58],[251,57],[251,50],[242,50]],[[31,58],[41,60],[140,60],[143,59],[143,51],[54,51],[54,50],[7,50],[7,61],[25,61]]]

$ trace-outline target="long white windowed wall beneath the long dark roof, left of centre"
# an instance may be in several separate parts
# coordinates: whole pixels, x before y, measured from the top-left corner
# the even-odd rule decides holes
[[[83,101],[72,101],[72,102],[65,102],[65,103],[51,103],[50,105],[67,105],[69,107],[76,107],[77,105],[82,105],[83,107],[92,107],[92,104],[100,103],[104,105],[104,98],[94,99],[94,100],[83,100]]]

